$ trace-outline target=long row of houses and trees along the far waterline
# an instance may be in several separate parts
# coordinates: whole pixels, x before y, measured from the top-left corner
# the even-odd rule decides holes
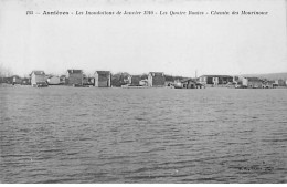
[[[115,81],[116,80],[116,81]],[[266,80],[259,77],[231,76],[231,75],[202,75],[195,79],[166,75],[163,72],[149,72],[145,75],[124,74],[113,76],[110,71],[95,71],[86,76],[82,70],[67,70],[65,75],[47,75],[44,71],[32,71],[29,79],[17,75],[9,77],[11,84],[31,84],[32,86],[73,85],[73,86],[172,86],[178,89],[202,89],[206,86],[230,86],[270,89],[286,86],[286,80]]]

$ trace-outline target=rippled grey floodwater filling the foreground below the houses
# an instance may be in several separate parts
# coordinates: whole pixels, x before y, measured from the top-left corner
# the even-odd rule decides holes
[[[0,87],[1,183],[287,183],[287,89]]]

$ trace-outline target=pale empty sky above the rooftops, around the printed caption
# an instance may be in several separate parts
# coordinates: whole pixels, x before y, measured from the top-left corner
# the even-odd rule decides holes
[[[40,15],[26,15],[28,10]],[[43,11],[240,11],[240,15],[42,15]],[[241,11],[268,15],[241,15]],[[0,0],[0,64],[13,74],[287,72],[285,0]]]

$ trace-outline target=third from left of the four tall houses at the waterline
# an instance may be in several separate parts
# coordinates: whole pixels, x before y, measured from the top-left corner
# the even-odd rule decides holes
[[[111,73],[109,71],[96,71],[94,76],[96,87],[111,86]]]

